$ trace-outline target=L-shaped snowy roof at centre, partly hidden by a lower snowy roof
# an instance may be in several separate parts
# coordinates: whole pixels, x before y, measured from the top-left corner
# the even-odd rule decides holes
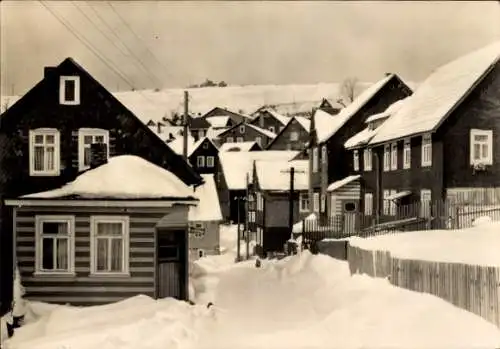
[[[260,150],[220,152],[219,161],[230,190],[246,188],[246,175],[252,175],[253,162],[258,160],[291,160],[298,154],[291,150]],[[249,177],[251,178],[251,177]]]

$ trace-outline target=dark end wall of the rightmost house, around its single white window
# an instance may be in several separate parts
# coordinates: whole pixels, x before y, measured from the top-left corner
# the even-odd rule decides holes
[[[500,187],[500,63],[453,112],[438,130],[444,146],[444,185]],[[493,165],[474,173],[470,165],[470,130],[493,131]]]

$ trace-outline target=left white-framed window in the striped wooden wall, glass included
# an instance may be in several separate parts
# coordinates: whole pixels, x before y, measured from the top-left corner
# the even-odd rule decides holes
[[[75,217],[35,217],[36,273],[73,274],[75,270]]]

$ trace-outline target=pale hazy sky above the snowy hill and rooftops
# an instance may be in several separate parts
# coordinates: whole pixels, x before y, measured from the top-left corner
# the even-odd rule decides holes
[[[2,95],[25,93],[66,57],[113,91],[386,72],[418,82],[500,40],[497,1],[4,0],[0,11]]]

